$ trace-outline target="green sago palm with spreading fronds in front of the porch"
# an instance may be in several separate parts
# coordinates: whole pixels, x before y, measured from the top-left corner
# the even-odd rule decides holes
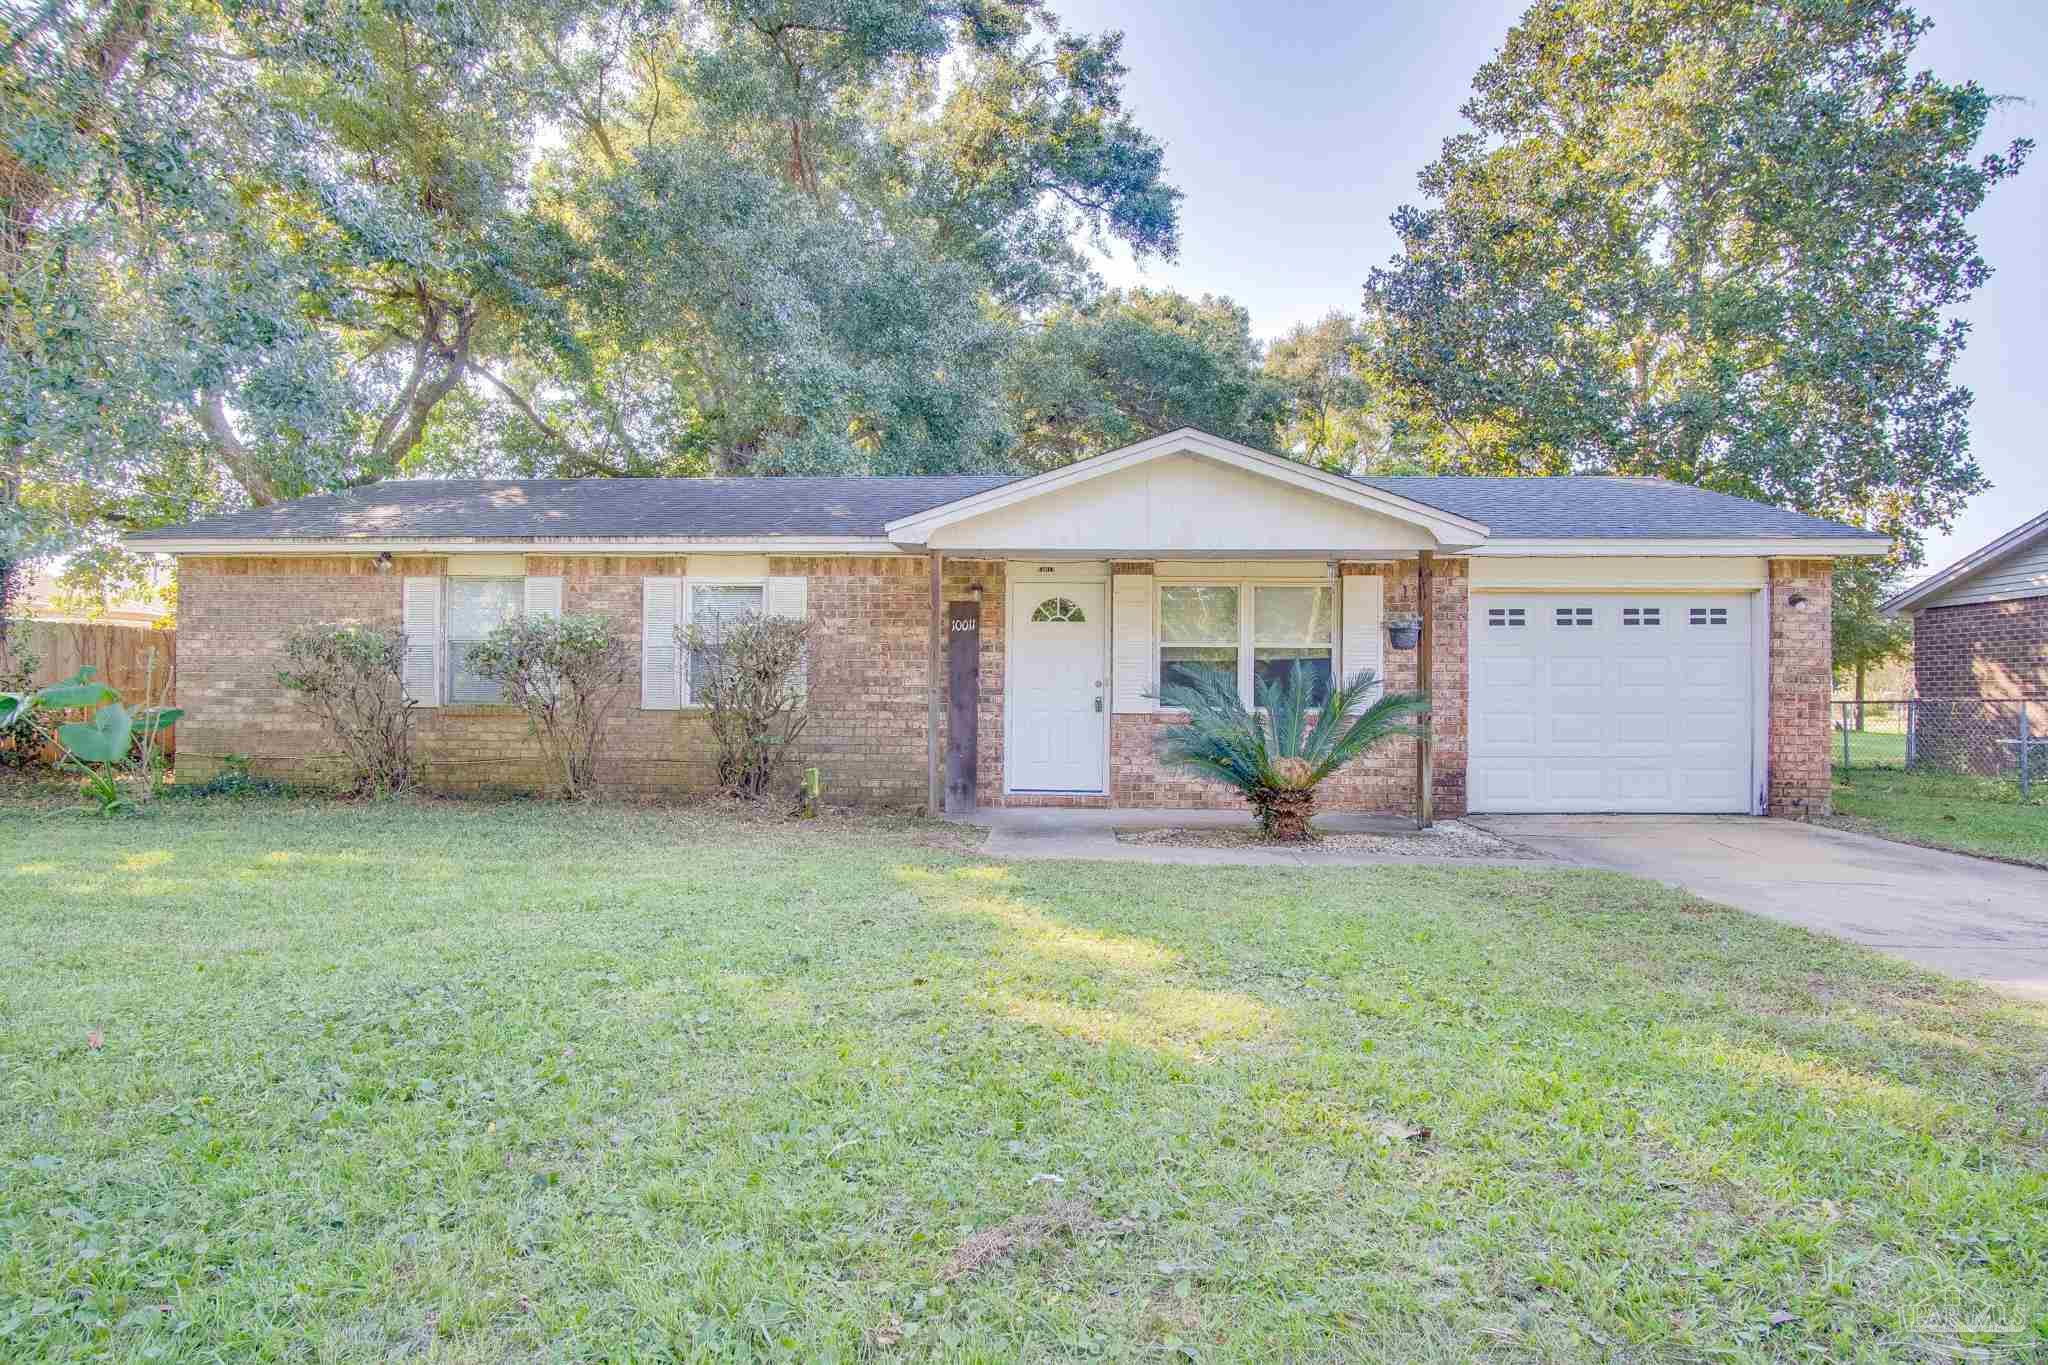
[[[1159,700],[1186,710],[1188,722],[1165,729],[1159,757],[1231,784],[1268,839],[1298,843],[1323,778],[1384,739],[1421,733],[1405,720],[1430,710],[1427,698],[1389,692],[1368,704],[1376,686],[1370,671],[1354,673],[1319,704],[1309,669],[1294,669],[1286,684],[1260,688],[1257,710],[1245,708],[1229,677],[1169,686]]]

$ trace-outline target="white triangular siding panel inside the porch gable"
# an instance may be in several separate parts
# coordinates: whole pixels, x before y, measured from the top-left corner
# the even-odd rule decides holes
[[[1190,559],[1436,548],[1427,530],[1268,475],[1176,454],[944,526],[932,546]],[[696,569],[692,567],[692,573]]]

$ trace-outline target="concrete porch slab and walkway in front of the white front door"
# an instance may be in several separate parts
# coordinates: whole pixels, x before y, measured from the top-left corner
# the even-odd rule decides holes
[[[1329,853],[1321,849],[1204,849],[1163,843],[1124,843],[1118,829],[1251,829],[1251,817],[1237,810],[1069,810],[1016,808],[979,810],[965,819],[989,831],[981,851],[989,857],[1077,857],[1083,862],[1141,862],[1206,868],[1382,868],[1382,866],[1454,866],[1454,868],[1554,868],[1550,860],[1530,857],[1419,857],[1401,853]],[[1415,821],[1384,814],[1329,810],[1315,817],[1323,833],[1403,835],[1415,833]]]

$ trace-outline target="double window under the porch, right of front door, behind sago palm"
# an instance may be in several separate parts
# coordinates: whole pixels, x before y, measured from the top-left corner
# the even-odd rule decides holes
[[[1251,706],[1305,671],[1317,700],[1329,696],[1335,598],[1329,583],[1163,583],[1159,690],[1217,677]]]

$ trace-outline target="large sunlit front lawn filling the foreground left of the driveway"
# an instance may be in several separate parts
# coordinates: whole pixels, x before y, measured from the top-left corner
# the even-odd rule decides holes
[[[0,960],[6,1359],[2048,1353],[2048,1011],[1608,874],[14,808]]]

